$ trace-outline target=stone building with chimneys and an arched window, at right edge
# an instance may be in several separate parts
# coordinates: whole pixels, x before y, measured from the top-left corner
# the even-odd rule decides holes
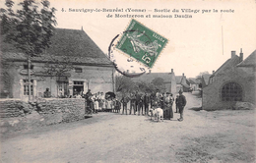
[[[231,51],[228,59],[203,88],[204,110],[231,109],[236,102],[255,104],[255,53],[243,61],[243,53]]]

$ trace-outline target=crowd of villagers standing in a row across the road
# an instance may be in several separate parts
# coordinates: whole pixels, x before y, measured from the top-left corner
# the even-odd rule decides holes
[[[186,105],[186,98],[179,90],[179,95],[174,99],[173,94],[169,92],[160,93],[159,90],[155,93],[139,93],[138,91],[130,94],[123,93],[120,100],[117,98],[106,98],[103,92],[93,94],[91,90],[85,94],[86,107],[92,112],[97,113],[98,110],[108,110],[119,112],[122,109],[122,114],[134,115],[149,115],[150,109],[161,108],[163,110],[163,119],[172,120],[172,106],[175,103],[176,113],[180,113],[179,121],[183,121],[183,110]],[[130,108],[128,109],[128,103]],[[122,105],[122,107],[121,107]],[[128,113],[129,112],[129,113]]]

